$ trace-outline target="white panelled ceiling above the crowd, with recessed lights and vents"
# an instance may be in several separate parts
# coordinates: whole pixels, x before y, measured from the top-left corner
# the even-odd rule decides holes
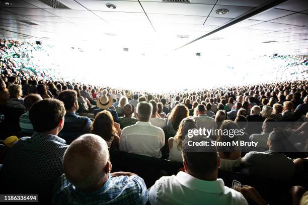
[[[282,3],[266,7],[271,2]],[[228,13],[219,15],[219,9]],[[234,24],[239,18],[242,21]],[[308,1],[0,1],[0,38],[5,39],[84,42],[145,53],[152,48],[175,50],[201,36],[180,50],[307,55]]]

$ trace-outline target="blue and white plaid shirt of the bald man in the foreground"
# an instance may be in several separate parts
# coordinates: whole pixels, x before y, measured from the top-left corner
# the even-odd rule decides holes
[[[148,191],[142,178],[133,176],[108,176],[107,182],[98,190],[83,193],[65,178],[56,182],[53,204],[145,204]]]

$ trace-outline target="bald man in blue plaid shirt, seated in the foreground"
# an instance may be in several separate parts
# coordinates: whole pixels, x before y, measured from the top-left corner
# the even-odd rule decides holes
[[[145,204],[148,191],[142,178],[111,172],[106,142],[86,134],[71,143],[63,157],[64,174],[53,193],[53,204]]]

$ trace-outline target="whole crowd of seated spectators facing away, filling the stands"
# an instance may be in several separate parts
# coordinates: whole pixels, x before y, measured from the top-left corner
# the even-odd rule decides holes
[[[53,189],[54,204],[267,204],[251,186],[225,186],[218,170],[281,181],[307,173],[306,80],[162,94],[65,82],[1,63],[0,126],[8,115],[16,115],[18,124],[14,131],[1,127],[0,137],[20,137],[0,161],[2,180]],[[245,133],[187,137],[200,128]],[[230,139],[258,146],[189,149],[189,140]],[[134,173],[111,172],[109,156],[119,151],[183,162],[184,169],[146,187]],[[308,192],[292,189],[298,190],[297,202],[304,204]]]

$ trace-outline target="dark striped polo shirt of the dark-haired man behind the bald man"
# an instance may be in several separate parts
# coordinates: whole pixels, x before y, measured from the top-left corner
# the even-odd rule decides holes
[[[92,122],[88,117],[79,116],[77,113],[66,113],[63,129],[58,136],[63,138],[66,144],[70,144],[79,136],[88,133],[91,124]]]

